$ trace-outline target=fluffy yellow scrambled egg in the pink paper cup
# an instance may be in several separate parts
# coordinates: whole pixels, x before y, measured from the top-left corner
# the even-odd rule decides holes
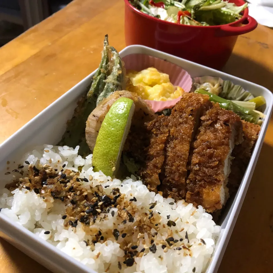
[[[171,84],[169,75],[161,73],[154,67],[140,72],[129,71],[127,75],[130,79],[127,90],[137,93],[144,100],[173,100],[184,92],[181,87]]]

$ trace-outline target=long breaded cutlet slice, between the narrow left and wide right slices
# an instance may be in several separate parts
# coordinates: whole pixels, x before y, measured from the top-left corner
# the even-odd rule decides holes
[[[186,196],[187,162],[190,145],[199,126],[199,117],[212,106],[209,97],[183,93],[168,117],[169,137],[166,143],[162,192],[175,201]]]

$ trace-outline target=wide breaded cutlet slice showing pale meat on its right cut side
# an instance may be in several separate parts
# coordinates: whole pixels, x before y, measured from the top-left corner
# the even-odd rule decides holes
[[[231,152],[242,142],[242,122],[238,115],[219,107],[209,109],[201,117],[193,143],[186,201],[201,205],[207,212],[222,208],[228,198],[228,175]]]

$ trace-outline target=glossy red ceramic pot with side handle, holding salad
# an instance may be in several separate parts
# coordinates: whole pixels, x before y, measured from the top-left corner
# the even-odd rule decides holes
[[[243,11],[236,22],[220,26],[187,26],[154,18],[125,1],[125,42],[144,45],[172,55],[222,69],[231,55],[238,35],[254,30],[257,21]],[[231,0],[243,5],[243,0]]]

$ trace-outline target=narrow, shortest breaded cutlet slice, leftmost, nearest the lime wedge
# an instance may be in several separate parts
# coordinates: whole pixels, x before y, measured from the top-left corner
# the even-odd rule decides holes
[[[139,175],[144,180],[148,189],[156,193],[157,186],[160,185],[159,174],[165,158],[165,142],[169,135],[168,118],[161,115],[145,123],[150,143],[143,151],[146,158],[143,162],[143,167],[139,171]]]

